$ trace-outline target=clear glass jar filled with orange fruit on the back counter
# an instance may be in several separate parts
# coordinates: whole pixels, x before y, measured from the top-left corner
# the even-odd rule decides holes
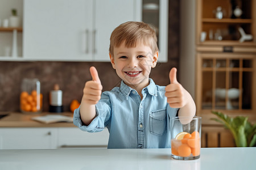
[[[40,94],[39,80],[24,78],[20,93],[20,111],[23,113],[40,113],[42,106],[43,95]]]

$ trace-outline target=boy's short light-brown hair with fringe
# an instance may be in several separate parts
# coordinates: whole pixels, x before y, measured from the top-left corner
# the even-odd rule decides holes
[[[114,47],[119,47],[125,41],[125,46],[135,47],[137,42],[151,47],[152,53],[158,52],[155,30],[143,22],[126,22],[114,29],[110,36],[109,53],[113,56]]]

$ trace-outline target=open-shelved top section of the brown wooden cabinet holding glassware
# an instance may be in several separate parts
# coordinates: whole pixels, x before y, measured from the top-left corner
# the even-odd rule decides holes
[[[242,15],[234,16],[236,7]],[[218,9],[221,8],[221,11]],[[253,45],[256,39],[239,41],[241,27],[246,34],[256,36],[256,1],[197,0],[197,45]],[[221,18],[217,15],[221,12]],[[206,36],[205,36],[206,35]]]

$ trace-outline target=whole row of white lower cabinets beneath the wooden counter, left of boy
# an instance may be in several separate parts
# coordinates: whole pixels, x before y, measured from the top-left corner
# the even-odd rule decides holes
[[[0,128],[0,149],[106,148],[109,132],[79,128]]]

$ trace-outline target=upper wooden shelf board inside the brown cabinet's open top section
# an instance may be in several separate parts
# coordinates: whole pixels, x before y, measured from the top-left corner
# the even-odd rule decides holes
[[[253,21],[251,19],[230,19],[230,18],[223,18],[223,19],[216,19],[216,18],[203,18],[202,22],[204,23],[235,23],[235,24],[251,24]]]

